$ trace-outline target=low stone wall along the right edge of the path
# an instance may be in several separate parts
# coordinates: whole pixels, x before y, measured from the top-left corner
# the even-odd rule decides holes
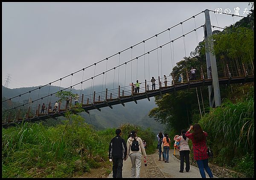
[[[178,160],[180,160],[179,154],[175,154],[174,156]],[[189,157],[189,162],[190,162],[190,165],[198,167],[196,161],[192,157]],[[219,167],[217,165],[213,165],[210,163],[208,165],[209,165],[209,168],[212,170],[212,174],[215,175],[216,177],[246,177],[245,174],[238,173],[236,171],[233,171],[227,168]]]

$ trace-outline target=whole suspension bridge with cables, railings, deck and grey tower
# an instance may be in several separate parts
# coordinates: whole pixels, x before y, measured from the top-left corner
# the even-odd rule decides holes
[[[90,81],[91,80],[91,89],[93,89],[94,86],[94,79],[96,77],[102,77],[102,91],[101,92],[96,92],[92,91],[90,94],[80,94],[78,101],[82,108],[84,109],[85,112],[90,113],[90,110],[97,109],[101,111],[101,108],[103,107],[109,107],[113,109],[113,105],[118,105],[122,104],[125,106],[125,103],[127,102],[134,102],[138,103],[137,101],[140,99],[148,99],[150,101],[150,97],[154,96],[162,96],[165,93],[176,93],[178,90],[184,90],[184,89],[190,89],[190,88],[196,88],[196,87],[201,87],[201,86],[208,86],[209,87],[209,104],[211,107],[219,106],[221,104],[221,99],[220,99],[220,91],[219,91],[219,84],[233,84],[233,83],[247,83],[247,82],[253,82],[254,81],[254,69],[251,64],[244,64],[242,62],[234,63],[234,64],[223,64],[221,67],[217,67],[216,64],[216,59],[215,55],[213,55],[210,51],[206,51],[206,59],[207,59],[207,67],[200,67],[200,69],[196,70],[195,77],[191,78],[191,74],[189,70],[186,70],[186,73],[183,74],[183,81],[178,81],[179,75],[175,75],[174,73],[171,73],[169,76],[167,76],[167,81],[161,76],[159,73],[159,59],[158,59],[158,50],[160,50],[161,54],[160,57],[162,57],[162,49],[165,46],[170,46],[170,52],[171,52],[171,59],[174,57],[174,46],[173,43],[174,41],[183,38],[184,42],[184,50],[185,50],[185,56],[186,56],[186,46],[185,46],[185,36],[190,34],[190,33],[197,33],[197,30],[200,28],[204,28],[204,41],[206,43],[206,47],[212,48],[211,43],[212,43],[212,28],[218,27],[218,26],[212,26],[210,22],[210,17],[209,17],[209,12],[214,12],[211,10],[205,10],[202,12],[199,12],[197,15],[194,15],[190,17],[187,20],[194,19],[201,13],[205,14],[205,23],[201,26],[196,27],[195,23],[195,28],[193,27],[191,31],[187,32],[186,34],[183,33],[183,26],[182,24],[185,23],[187,20],[184,20],[183,22],[180,22],[176,24],[175,26],[181,26],[182,27],[182,35],[180,37],[177,37],[175,39],[171,40],[171,37],[169,38],[169,41],[167,41],[165,44],[158,45],[157,37],[161,35],[164,32],[169,32],[172,28],[175,26],[172,26],[171,28],[168,28],[164,30],[163,32],[160,32],[144,41],[141,41],[140,43],[135,44],[134,46],[130,46],[127,49],[124,49],[120,52],[117,52],[114,55],[109,56],[108,58],[105,58],[101,61],[98,61],[88,67],[85,67],[79,71],[76,71],[75,73],[71,73],[70,75],[66,75],[63,78],[57,79],[55,81],[50,82],[49,84],[46,84],[44,86],[40,86],[38,88],[35,88],[34,90],[30,90],[26,93],[17,95],[15,97],[6,99],[3,102],[6,101],[11,101],[14,100],[15,98],[20,98],[21,96],[24,96],[25,94],[30,95],[33,91],[38,91],[38,99],[35,99],[31,102],[24,103],[23,105],[18,105],[15,107],[12,107],[8,110],[3,110],[3,112],[9,113],[9,116],[7,119],[4,121],[2,120],[2,127],[6,128],[9,126],[16,126],[17,124],[20,124],[22,122],[36,122],[36,121],[45,121],[46,119],[56,119],[59,116],[64,116],[64,113],[66,113],[69,110],[69,107],[75,107],[75,102],[73,99],[70,99],[70,102],[68,104],[66,102],[58,102],[58,107],[56,110],[53,111],[53,108],[55,106],[55,102],[49,102],[48,103],[48,97],[52,97],[58,92],[51,93],[47,96],[39,98],[40,95],[40,90],[44,87],[49,87],[51,84],[55,82],[60,82],[61,86],[61,81],[64,78],[71,77],[71,83],[70,86],[67,88],[64,88],[60,91],[64,90],[69,90],[72,89],[75,86],[78,86],[81,84],[81,88],[84,82]],[[214,12],[215,13],[215,12]],[[229,15],[229,14],[228,14]],[[234,16],[234,15],[233,15]],[[233,17],[232,16],[232,17]],[[221,27],[218,27],[221,29]],[[224,28],[222,28],[224,29]],[[152,39],[156,38],[157,42],[157,47],[154,49],[151,49],[148,52],[145,52],[145,43]],[[196,41],[198,43],[198,36],[196,34]],[[141,53],[141,55],[132,58],[132,50],[135,48],[137,45],[143,44],[144,46],[144,52]],[[122,64],[120,64],[120,54],[122,52],[125,52],[127,50],[131,50],[131,60],[126,61]],[[148,73],[148,80],[145,78],[145,56],[148,57],[148,67],[149,67],[149,57],[151,52],[157,51],[157,59],[155,59],[154,63],[156,64],[157,61],[157,66],[158,66],[158,77],[156,78],[156,83],[155,83],[155,88],[153,89],[151,80],[150,80],[150,75]],[[119,55],[119,65],[108,69],[108,61],[113,57]],[[129,85],[126,85],[126,72],[127,72],[127,64],[132,63],[133,61],[137,61],[141,58],[144,58],[144,79],[145,81],[140,82],[140,88],[137,91],[134,91],[134,83],[129,83]],[[103,73],[95,74],[96,70],[96,65],[105,61],[106,62],[106,69]],[[162,61],[162,58],[161,58]],[[119,85],[119,67],[125,66],[125,82],[124,86]],[[161,64],[162,66],[162,64]],[[87,77],[87,79],[84,80],[84,71],[89,68],[89,67],[94,67],[94,75],[92,77]],[[138,66],[137,66],[138,69]],[[115,70],[118,70],[118,86],[114,88],[114,83],[113,83],[113,89],[108,89],[105,88],[103,90],[103,85],[104,85],[104,80],[105,80],[105,87],[106,87],[106,79],[107,79],[107,73],[113,71],[113,82],[115,80]],[[72,78],[73,75],[76,73],[83,72],[82,76],[82,81],[73,84],[72,85]],[[132,73],[132,65],[131,65],[131,73]],[[162,70],[161,70],[162,73]],[[138,77],[136,76],[136,79]],[[59,86],[59,87],[60,87]],[[37,104],[38,101],[42,101],[42,99],[47,98],[47,104],[46,104],[46,112],[39,113],[41,105]],[[35,105],[33,107],[33,105]],[[24,108],[26,106],[26,108]],[[9,112],[8,112],[9,111]],[[13,113],[15,111],[15,113]]]

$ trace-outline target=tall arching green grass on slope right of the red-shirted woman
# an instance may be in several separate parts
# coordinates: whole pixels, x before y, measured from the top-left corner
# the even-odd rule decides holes
[[[254,149],[254,99],[233,104],[226,100],[221,107],[216,107],[199,122],[215,149],[226,148],[229,156],[241,156]]]

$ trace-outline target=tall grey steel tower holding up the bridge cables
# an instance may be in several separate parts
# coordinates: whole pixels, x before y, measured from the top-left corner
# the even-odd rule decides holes
[[[208,78],[212,78],[212,85],[208,86],[209,89],[209,103],[210,107],[217,107],[221,105],[221,93],[218,81],[218,71],[216,58],[213,52],[213,39],[212,39],[212,27],[209,15],[209,10],[204,11],[205,24],[204,24],[204,42],[205,42],[205,54],[207,64]],[[212,76],[212,77],[210,77]]]

